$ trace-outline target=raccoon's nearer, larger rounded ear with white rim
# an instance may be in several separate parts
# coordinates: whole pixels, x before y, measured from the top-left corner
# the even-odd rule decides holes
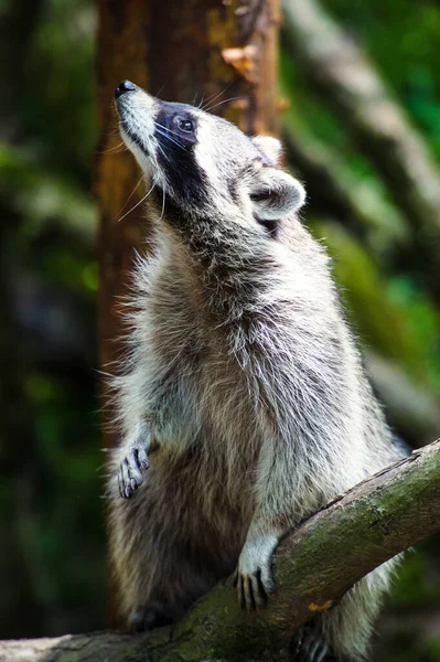
[[[287,172],[262,168],[253,182],[249,197],[259,218],[275,220],[298,211],[305,202],[305,191]]]

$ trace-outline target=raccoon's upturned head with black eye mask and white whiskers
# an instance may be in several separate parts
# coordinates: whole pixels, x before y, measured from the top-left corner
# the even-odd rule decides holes
[[[234,216],[273,234],[278,220],[304,203],[301,183],[279,168],[276,138],[249,138],[219,117],[162,102],[129,81],[115,96],[127,147],[181,214]]]

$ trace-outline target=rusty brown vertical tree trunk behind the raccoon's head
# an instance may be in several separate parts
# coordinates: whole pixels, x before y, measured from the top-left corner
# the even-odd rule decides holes
[[[149,231],[143,205],[118,222],[143,190],[135,159],[118,147],[114,90],[128,78],[167,100],[204,102],[248,134],[276,132],[279,20],[278,0],[99,0],[98,12],[98,327],[103,370],[115,372],[124,334],[118,301]],[[108,431],[105,446],[115,441]]]

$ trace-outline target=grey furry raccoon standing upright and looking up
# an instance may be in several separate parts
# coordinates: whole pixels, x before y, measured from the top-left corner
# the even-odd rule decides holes
[[[235,569],[242,604],[262,606],[280,537],[400,452],[279,143],[140,89],[118,110],[157,183],[155,252],[138,259],[114,380],[121,441],[108,481],[120,610],[142,628],[179,618]],[[310,650],[366,655],[393,565],[321,617]]]

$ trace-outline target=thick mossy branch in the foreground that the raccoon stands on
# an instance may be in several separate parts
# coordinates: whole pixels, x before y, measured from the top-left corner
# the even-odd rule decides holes
[[[240,611],[230,578],[173,629],[0,643],[1,662],[283,660],[292,631],[356,581],[440,530],[440,440],[337,496],[280,544],[269,607]],[[347,545],[350,541],[350,545]],[[312,569],[311,569],[312,568]]]

